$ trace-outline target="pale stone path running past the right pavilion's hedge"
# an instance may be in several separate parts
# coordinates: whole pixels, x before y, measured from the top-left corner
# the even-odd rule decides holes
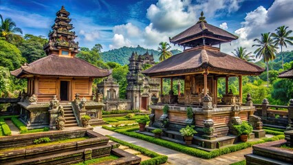
[[[116,133],[113,131],[108,131],[106,129],[102,129],[100,126],[94,127],[94,131],[97,133],[101,133],[102,135],[111,135],[116,137],[120,140],[124,140],[126,142],[135,144],[137,146],[142,146],[147,148],[151,151],[155,151],[156,153],[160,153],[162,155],[167,155],[169,164],[184,164],[184,165],[191,165],[191,164],[217,164],[217,165],[226,165],[232,164],[235,162],[239,162],[245,159],[244,155],[248,153],[252,153],[252,148],[246,148],[241,151],[237,151],[234,153],[229,153],[226,155],[221,155],[219,157],[215,157],[213,159],[201,159],[199,157],[193,157],[191,155],[187,155],[185,153],[180,153],[178,151],[171,150],[169,148],[165,148],[163,146],[159,146],[157,144],[153,144],[150,142],[146,142],[144,140],[139,140],[133,137],[129,137],[127,135],[122,135],[120,133]]]

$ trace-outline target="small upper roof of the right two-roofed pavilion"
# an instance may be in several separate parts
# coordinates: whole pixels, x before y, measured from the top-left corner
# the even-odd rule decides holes
[[[180,34],[177,34],[176,36],[173,36],[170,39],[171,43],[176,43],[177,41],[180,41],[182,39],[187,39],[188,37],[195,36],[197,34],[201,33],[212,33],[218,36],[225,36],[230,38],[231,40],[238,39],[237,36],[234,34],[231,34],[230,32],[227,32],[226,30],[222,30],[221,28],[217,28],[214,25],[210,25],[208,23],[199,22],[195,25],[191,26],[191,28],[188,28],[187,30],[184,30]]]

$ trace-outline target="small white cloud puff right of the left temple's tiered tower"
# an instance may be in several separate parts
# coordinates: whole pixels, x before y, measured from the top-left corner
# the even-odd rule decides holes
[[[126,25],[114,26],[113,33],[122,34],[129,37],[137,37],[140,36],[140,29],[132,23],[127,23]]]

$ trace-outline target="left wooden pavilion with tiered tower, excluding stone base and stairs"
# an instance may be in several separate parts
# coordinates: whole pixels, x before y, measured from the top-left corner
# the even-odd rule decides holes
[[[75,94],[91,100],[93,78],[111,74],[75,57],[78,43],[68,16],[64,7],[56,12],[49,42],[44,46],[47,56],[11,72],[17,78],[28,79],[28,95],[34,94],[39,102],[50,101],[54,95],[58,100],[72,101]]]

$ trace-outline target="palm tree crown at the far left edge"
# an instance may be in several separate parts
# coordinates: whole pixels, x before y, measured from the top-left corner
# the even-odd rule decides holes
[[[17,28],[17,25],[12,21],[12,19],[3,20],[2,15],[0,14],[1,24],[0,24],[0,36],[5,37],[6,41],[12,41],[19,38],[20,36],[15,34],[19,32],[23,34],[21,28]]]

